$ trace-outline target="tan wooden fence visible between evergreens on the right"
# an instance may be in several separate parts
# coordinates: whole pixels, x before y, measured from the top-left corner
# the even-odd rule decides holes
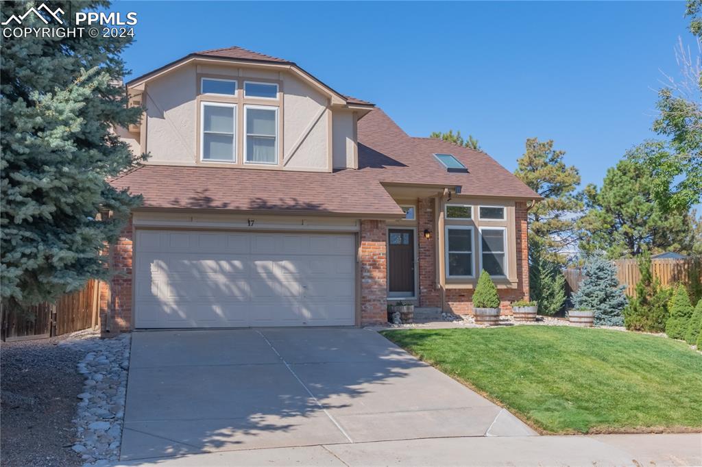
[[[617,259],[612,262],[616,266],[619,284],[626,285],[624,292],[630,297],[636,296],[636,284],[641,278],[639,262],[637,259]],[[661,281],[661,285],[671,287],[682,284],[689,285],[690,280],[700,280],[702,258],[689,259],[653,259],[651,260],[651,273],[654,278]],[[692,273],[691,272],[696,272]],[[581,268],[563,270],[566,278],[566,291],[568,295],[578,290],[578,285],[585,278]]]

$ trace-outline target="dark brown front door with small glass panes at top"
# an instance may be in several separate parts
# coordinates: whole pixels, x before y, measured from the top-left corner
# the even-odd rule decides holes
[[[388,231],[388,261],[390,292],[414,295],[414,231],[390,229]]]

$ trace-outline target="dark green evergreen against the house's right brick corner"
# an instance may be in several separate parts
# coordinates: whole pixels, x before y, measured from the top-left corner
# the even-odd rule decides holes
[[[529,243],[529,297],[538,303],[538,314],[552,316],[566,301],[566,278],[560,265],[547,259],[540,248]]]

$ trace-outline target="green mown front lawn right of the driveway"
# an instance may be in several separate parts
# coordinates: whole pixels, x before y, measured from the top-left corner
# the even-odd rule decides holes
[[[565,326],[383,335],[546,432],[702,431],[702,356],[679,341]]]

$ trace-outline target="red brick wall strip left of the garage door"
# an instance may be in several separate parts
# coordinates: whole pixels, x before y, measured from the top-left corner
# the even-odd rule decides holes
[[[114,336],[120,331],[131,330],[132,320],[132,223],[124,227],[116,245],[112,245],[112,268],[110,280],[114,310],[110,316],[110,332],[107,332],[108,284],[100,283],[100,331],[104,337]]]

